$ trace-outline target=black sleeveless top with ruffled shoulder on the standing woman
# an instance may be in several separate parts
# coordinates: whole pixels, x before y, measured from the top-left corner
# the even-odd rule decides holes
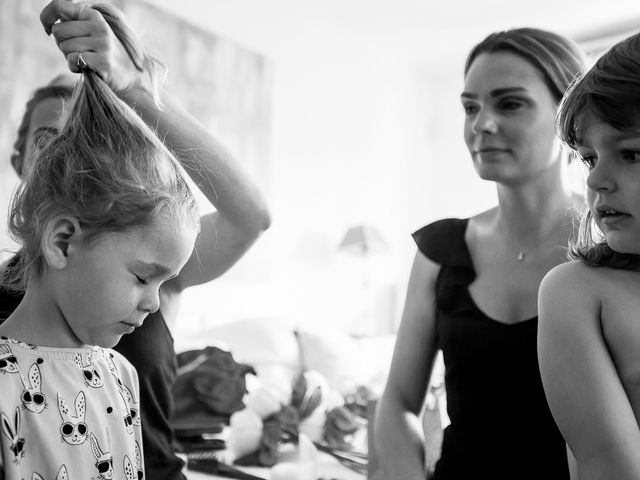
[[[566,447],[542,388],[537,317],[509,325],[485,315],[469,293],[475,279],[464,235],[468,219],[413,234],[441,265],[436,281],[438,347],[447,412],[437,480],[569,479]]]

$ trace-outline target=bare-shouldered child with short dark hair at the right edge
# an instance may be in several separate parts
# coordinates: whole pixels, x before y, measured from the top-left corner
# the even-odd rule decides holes
[[[589,172],[575,262],[540,289],[538,350],[580,480],[640,478],[640,35],[564,99],[561,137]]]

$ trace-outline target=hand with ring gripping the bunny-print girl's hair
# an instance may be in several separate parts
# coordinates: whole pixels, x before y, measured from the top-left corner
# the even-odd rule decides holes
[[[148,76],[143,73],[144,54],[116,8],[53,0],[40,13],[40,21],[47,34],[53,34],[72,72],[81,72],[78,57],[82,53],[88,68],[117,94],[150,88]]]

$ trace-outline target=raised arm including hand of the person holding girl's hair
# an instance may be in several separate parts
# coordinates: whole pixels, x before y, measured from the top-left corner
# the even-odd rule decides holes
[[[41,21],[52,32],[69,68],[78,72],[78,52],[88,66],[134,108],[165,145],[176,154],[189,176],[217,209],[201,219],[194,252],[180,275],[164,288],[179,292],[222,275],[270,225],[266,203],[258,187],[238,161],[191,115],[172,99],[154,98],[142,54],[121,12],[108,9],[109,21],[86,3],[54,0],[42,11]],[[55,23],[62,20],[60,23]],[[128,48],[116,38],[121,36]],[[123,33],[124,32],[124,33]]]

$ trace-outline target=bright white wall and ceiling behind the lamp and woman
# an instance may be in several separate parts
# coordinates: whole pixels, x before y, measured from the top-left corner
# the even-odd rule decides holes
[[[336,246],[357,223],[377,225],[391,245],[369,269],[374,294],[395,294],[395,304],[374,308],[377,321],[396,322],[415,251],[410,232],[495,201],[462,141],[468,49],[497,29],[532,24],[571,34],[640,11],[627,0],[606,12],[595,0],[542,0],[534,11],[499,0],[153,3],[263,53],[274,67],[274,222],[249,254],[269,259],[268,274],[240,283],[230,272],[194,289],[184,328],[238,316],[348,328],[362,308],[361,264]]]

